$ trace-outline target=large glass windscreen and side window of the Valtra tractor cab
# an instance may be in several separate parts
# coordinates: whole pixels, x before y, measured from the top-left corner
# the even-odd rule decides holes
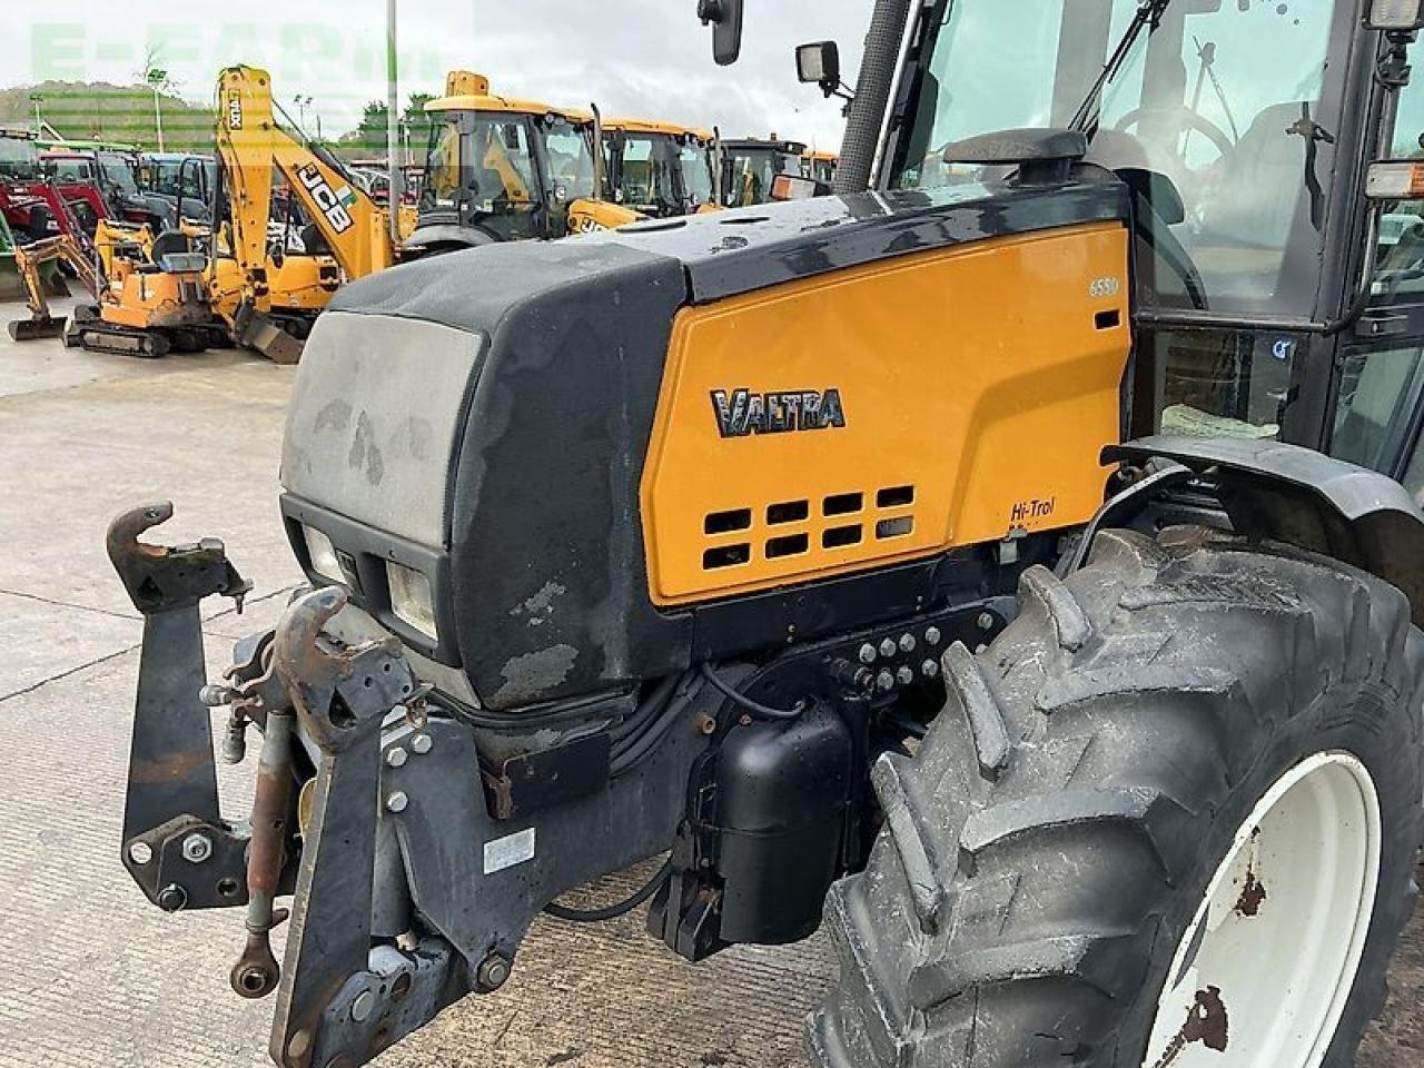
[[[1089,159],[1139,175],[1155,215],[1145,303],[1312,313],[1340,117],[1343,71],[1326,63],[1336,4],[1173,0],[1087,100],[1136,11],[1136,0],[940,0],[891,185],[977,178],[946,165],[944,148],[1067,127],[1081,111]]]

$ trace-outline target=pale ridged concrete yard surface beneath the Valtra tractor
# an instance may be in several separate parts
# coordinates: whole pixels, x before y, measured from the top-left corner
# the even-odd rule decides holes
[[[21,310],[0,305],[0,320]],[[256,591],[244,618],[209,612],[209,665],[222,666],[225,639],[269,624],[299,581],[275,507],[292,377],[242,353],[145,362],[0,333],[0,1068],[268,1064],[272,1004],[239,1001],[226,981],[239,916],[162,916],[118,864],[141,624],[103,538],[120,510],[171,497],[165,540],[228,541]],[[244,786],[225,778],[234,800]],[[641,914],[540,921],[504,991],[377,1064],[806,1068],[802,1020],[832,968],[822,938],[692,967],[642,933]],[[1424,924],[1391,987],[1358,1068],[1424,1062]]]

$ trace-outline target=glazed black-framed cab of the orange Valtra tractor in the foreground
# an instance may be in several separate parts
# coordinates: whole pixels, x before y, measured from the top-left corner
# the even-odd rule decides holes
[[[1081,134],[1079,174],[1132,194],[1125,433],[1279,439],[1418,496],[1424,185],[1371,164],[1424,157],[1420,6],[1358,7],[927,4],[877,184],[1025,181],[1049,131]]]

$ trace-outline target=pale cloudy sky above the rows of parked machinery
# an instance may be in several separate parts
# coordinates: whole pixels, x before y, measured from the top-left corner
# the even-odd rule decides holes
[[[0,7],[7,43],[0,87],[47,78],[130,83],[145,57],[157,56],[181,95],[205,100],[221,67],[248,63],[272,71],[283,104],[313,97],[328,135],[353,125],[367,100],[384,97],[382,0],[54,7],[3,0]],[[605,115],[718,124],[726,137],[775,130],[839,148],[840,107],[796,83],[792,50],[837,40],[853,81],[869,0],[748,0],[748,9],[742,61],[719,68],[696,0],[400,0],[402,93],[437,91],[447,68],[464,67],[510,95],[570,105],[594,98]]]

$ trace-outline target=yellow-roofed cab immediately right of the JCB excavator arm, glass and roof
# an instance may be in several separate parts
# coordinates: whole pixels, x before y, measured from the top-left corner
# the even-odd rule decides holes
[[[585,111],[494,95],[488,78],[453,71],[426,114],[430,142],[410,246],[561,238],[572,228],[571,208],[598,198],[594,117]]]

